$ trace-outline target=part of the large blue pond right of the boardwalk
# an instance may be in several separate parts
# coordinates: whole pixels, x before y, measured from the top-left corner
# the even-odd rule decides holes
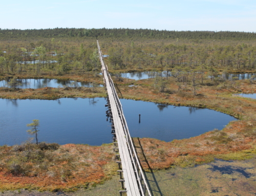
[[[229,121],[236,120],[206,108],[125,99],[121,103],[132,137],[172,141],[198,136],[214,128],[222,129]]]

